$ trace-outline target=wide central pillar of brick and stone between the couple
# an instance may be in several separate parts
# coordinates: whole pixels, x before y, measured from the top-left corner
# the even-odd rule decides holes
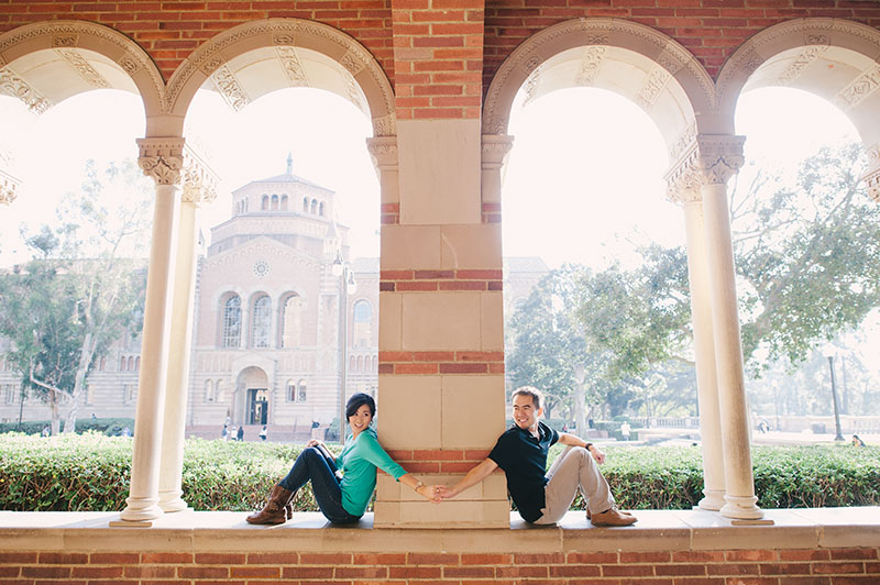
[[[451,484],[504,430],[502,234],[481,208],[483,2],[393,0],[396,198],[383,180],[378,433]],[[457,475],[458,474],[458,475]],[[508,526],[504,477],[432,505],[381,475],[376,526]]]

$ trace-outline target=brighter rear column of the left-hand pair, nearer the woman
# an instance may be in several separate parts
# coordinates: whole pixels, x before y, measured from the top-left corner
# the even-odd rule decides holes
[[[186,148],[158,478],[158,505],[166,512],[187,509],[187,504],[183,499],[182,482],[196,290],[197,219],[201,202],[213,201],[217,198],[216,186],[217,177],[195,153]]]

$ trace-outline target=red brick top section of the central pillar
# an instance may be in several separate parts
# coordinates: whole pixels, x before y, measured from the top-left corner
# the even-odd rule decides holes
[[[398,120],[476,120],[482,0],[392,0]]]

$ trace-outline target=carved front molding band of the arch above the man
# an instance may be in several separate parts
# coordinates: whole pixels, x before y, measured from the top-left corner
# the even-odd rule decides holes
[[[669,36],[637,22],[620,19],[578,19],[544,29],[516,47],[495,74],[483,107],[483,134],[506,134],[510,108],[528,75],[553,56],[575,47],[595,45],[626,48],[653,60],[669,77],[675,76],[694,111],[715,107],[712,78],[700,62]],[[579,82],[591,84],[603,53],[585,53]]]

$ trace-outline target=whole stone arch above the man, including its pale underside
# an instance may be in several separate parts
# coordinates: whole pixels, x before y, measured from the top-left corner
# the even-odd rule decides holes
[[[622,74],[642,79],[627,87],[609,82],[613,67],[626,67],[629,70]],[[682,136],[693,133],[697,114],[715,106],[712,78],[671,37],[636,22],[579,19],[532,35],[505,59],[486,93],[483,134],[507,133],[520,88],[538,97],[576,86],[604,87],[632,99],[657,123],[670,158]]]

